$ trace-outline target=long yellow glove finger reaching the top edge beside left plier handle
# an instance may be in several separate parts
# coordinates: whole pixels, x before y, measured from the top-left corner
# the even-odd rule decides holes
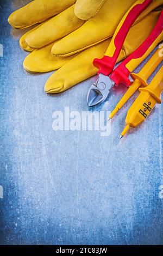
[[[85,22],[82,27],[54,44],[52,47],[52,54],[60,57],[70,56],[71,54],[83,51],[92,45],[98,44],[100,41],[110,38],[114,34],[123,15],[134,2],[135,0],[122,0],[121,2],[118,0],[106,0],[95,17]],[[163,0],[153,1],[135,21],[135,24],[141,21],[143,17],[148,15],[148,13],[161,3],[163,3]]]

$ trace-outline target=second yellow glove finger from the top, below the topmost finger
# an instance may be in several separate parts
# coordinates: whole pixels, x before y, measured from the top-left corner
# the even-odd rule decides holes
[[[42,48],[70,34],[84,24],[84,21],[74,15],[74,5],[62,13],[27,32],[21,38],[24,50],[29,48]]]

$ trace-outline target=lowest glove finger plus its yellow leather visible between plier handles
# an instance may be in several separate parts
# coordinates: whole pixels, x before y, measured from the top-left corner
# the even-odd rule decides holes
[[[127,35],[118,61],[126,58],[147,38],[155,26],[159,15],[160,11],[152,12],[130,29],[130,33]],[[95,57],[102,58],[104,56],[110,41],[111,38],[96,46],[87,48],[82,53],[79,53],[78,56],[71,59],[70,62],[62,66],[47,80],[45,92],[64,92],[75,84],[96,75],[98,70],[93,66],[92,61]]]

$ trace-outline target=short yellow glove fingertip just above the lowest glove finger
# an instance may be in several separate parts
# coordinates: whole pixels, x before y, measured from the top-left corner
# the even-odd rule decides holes
[[[49,72],[56,69],[59,69],[61,66],[65,65],[68,61],[70,61],[74,56],[61,58],[55,57],[51,54],[52,44],[49,44],[41,49],[36,49],[32,53],[30,53],[23,62],[23,67],[28,72]]]

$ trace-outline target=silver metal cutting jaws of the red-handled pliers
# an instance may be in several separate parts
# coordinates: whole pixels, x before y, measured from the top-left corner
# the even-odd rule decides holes
[[[93,107],[102,103],[108,97],[112,86],[114,83],[109,76],[99,74],[99,79],[92,84],[87,94],[87,105]]]

